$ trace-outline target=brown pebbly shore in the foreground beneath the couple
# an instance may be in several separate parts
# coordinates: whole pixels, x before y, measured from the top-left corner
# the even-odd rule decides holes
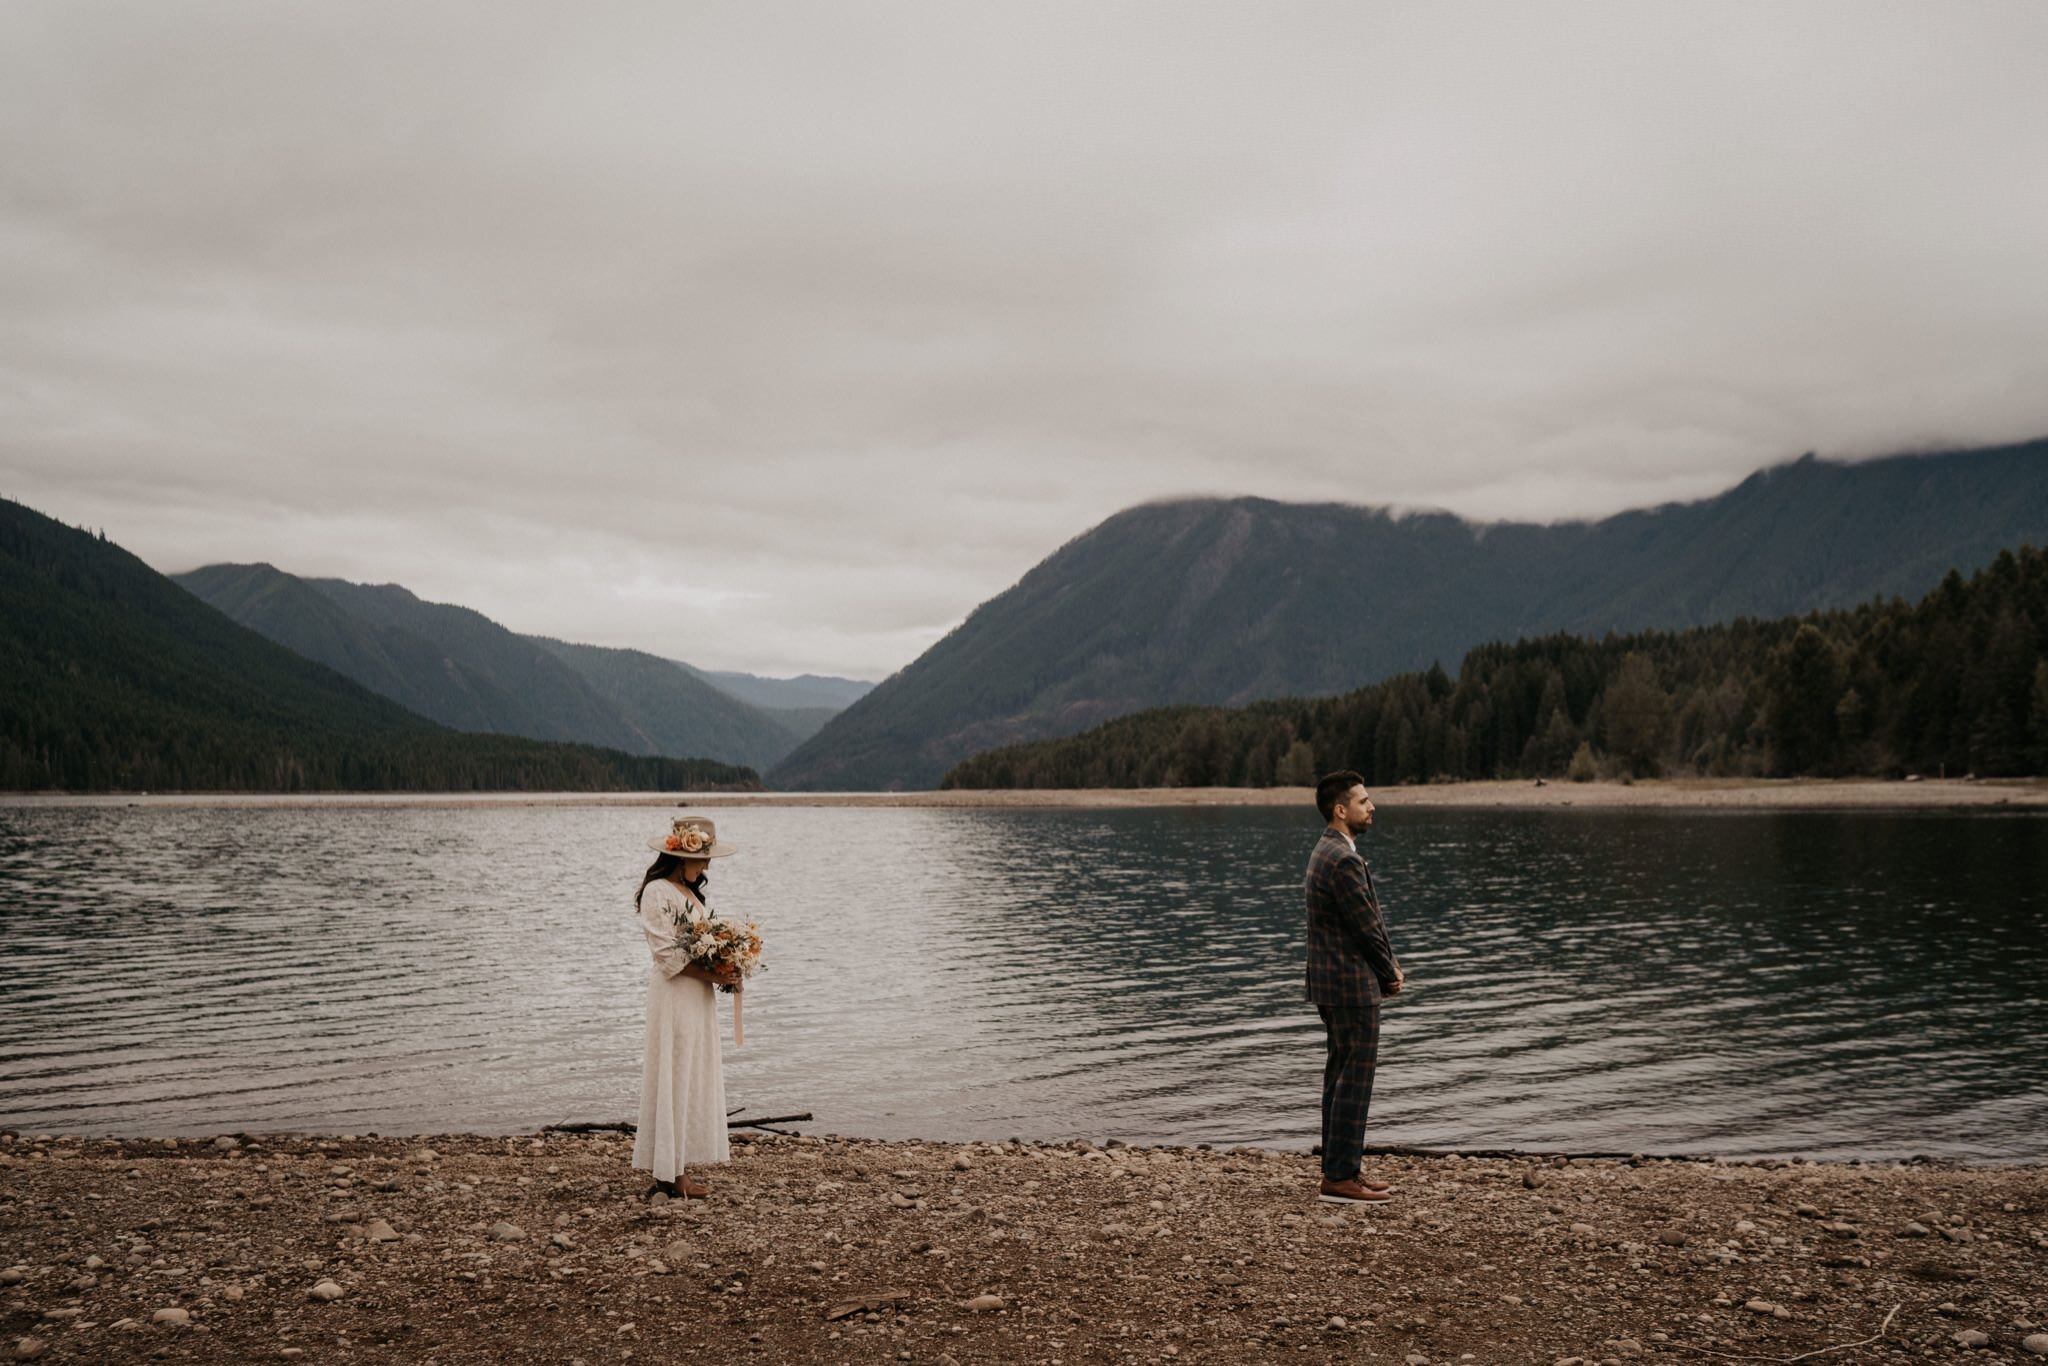
[[[0,1360],[2048,1360],[2036,1165],[629,1143],[0,1135]]]

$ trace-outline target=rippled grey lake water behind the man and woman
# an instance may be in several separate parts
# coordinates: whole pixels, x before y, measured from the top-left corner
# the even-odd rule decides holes
[[[721,809],[731,1104],[1315,1141],[1313,811]],[[0,807],[0,1124],[631,1118],[668,809]],[[2048,1157],[2048,819],[1382,811],[1372,1141]],[[721,1016],[729,1014],[721,1001]]]

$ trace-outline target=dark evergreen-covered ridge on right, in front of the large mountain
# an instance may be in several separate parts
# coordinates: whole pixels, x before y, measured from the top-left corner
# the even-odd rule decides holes
[[[1778,621],[1548,635],[1329,698],[1118,717],[944,786],[1272,786],[1595,774],[2048,772],[2048,551]]]

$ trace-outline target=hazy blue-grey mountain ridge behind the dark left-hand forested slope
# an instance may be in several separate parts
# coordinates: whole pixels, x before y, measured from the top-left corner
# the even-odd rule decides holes
[[[174,580],[244,627],[459,731],[752,768],[809,733],[803,719],[750,707],[674,659],[518,635],[397,584],[309,580],[272,565],[207,565]]]

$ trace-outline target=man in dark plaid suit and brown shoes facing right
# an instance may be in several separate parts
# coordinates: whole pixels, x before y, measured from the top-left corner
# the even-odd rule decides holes
[[[1366,1110],[1380,1051],[1380,997],[1403,985],[1380,922],[1372,870],[1358,836],[1372,829],[1372,795],[1352,770],[1315,784],[1323,838],[1309,854],[1309,999],[1323,1016],[1323,1188],[1329,1204],[1391,1200],[1386,1182],[1358,1171],[1366,1153]]]

